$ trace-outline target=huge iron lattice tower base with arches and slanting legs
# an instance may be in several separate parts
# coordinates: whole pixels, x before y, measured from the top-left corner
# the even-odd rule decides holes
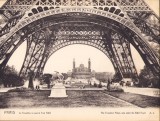
[[[39,76],[49,57],[64,46],[101,50],[117,77],[136,78],[132,44],[155,75],[159,73],[158,17],[143,0],[8,0],[0,9],[0,69],[27,41],[20,75]]]

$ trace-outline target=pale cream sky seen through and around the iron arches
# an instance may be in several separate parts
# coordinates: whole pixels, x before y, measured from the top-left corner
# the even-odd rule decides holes
[[[156,12],[156,14],[159,13],[159,0],[145,1],[148,3],[151,9]],[[0,0],[0,6],[3,2],[5,2],[5,0]],[[24,42],[15,51],[9,60],[8,65],[14,65],[17,71],[20,71],[24,60],[25,51],[26,42]],[[131,52],[137,71],[139,73],[140,70],[144,67],[144,63],[138,52],[133,47],[131,47]],[[72,70],[73,58],[76,60],[76,66],[79,66],[79,64],[82,63],[87,67],[88,58],[90,58],[92,70],[97,72],[114,72],[112,63],[100,50],[88,45],[70,45],[58,50],[50,57],[44,68],[44,73],[53,73],[54,71],[67,72],[68,70]]]

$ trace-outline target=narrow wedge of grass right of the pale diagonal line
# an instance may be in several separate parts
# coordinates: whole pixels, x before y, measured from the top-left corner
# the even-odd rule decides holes
[[[146,107],[160,107],[160,97],[150,97],[140,94],[133,94],[129,92],[108,92],[103,91],[106,94],[112,95],[114,97],[120,98],[134,105],[142,108]]]

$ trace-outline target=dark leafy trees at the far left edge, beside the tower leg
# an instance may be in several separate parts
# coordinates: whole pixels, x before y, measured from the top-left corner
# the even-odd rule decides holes
[[[4,85],[4,87],[22,86],[23,84],[23,78],[19,77],[14,66],[6,66],[0,73],[0,85]]]

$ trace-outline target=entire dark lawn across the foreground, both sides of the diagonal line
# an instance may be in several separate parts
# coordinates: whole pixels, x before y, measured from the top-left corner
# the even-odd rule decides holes
[[[160,98],[158,97],[150,97],[128,92],[68,90],[68,97],[66,98],[49,98],[49,95],[50,90],[1,92],[0,108],[160,107]]]

